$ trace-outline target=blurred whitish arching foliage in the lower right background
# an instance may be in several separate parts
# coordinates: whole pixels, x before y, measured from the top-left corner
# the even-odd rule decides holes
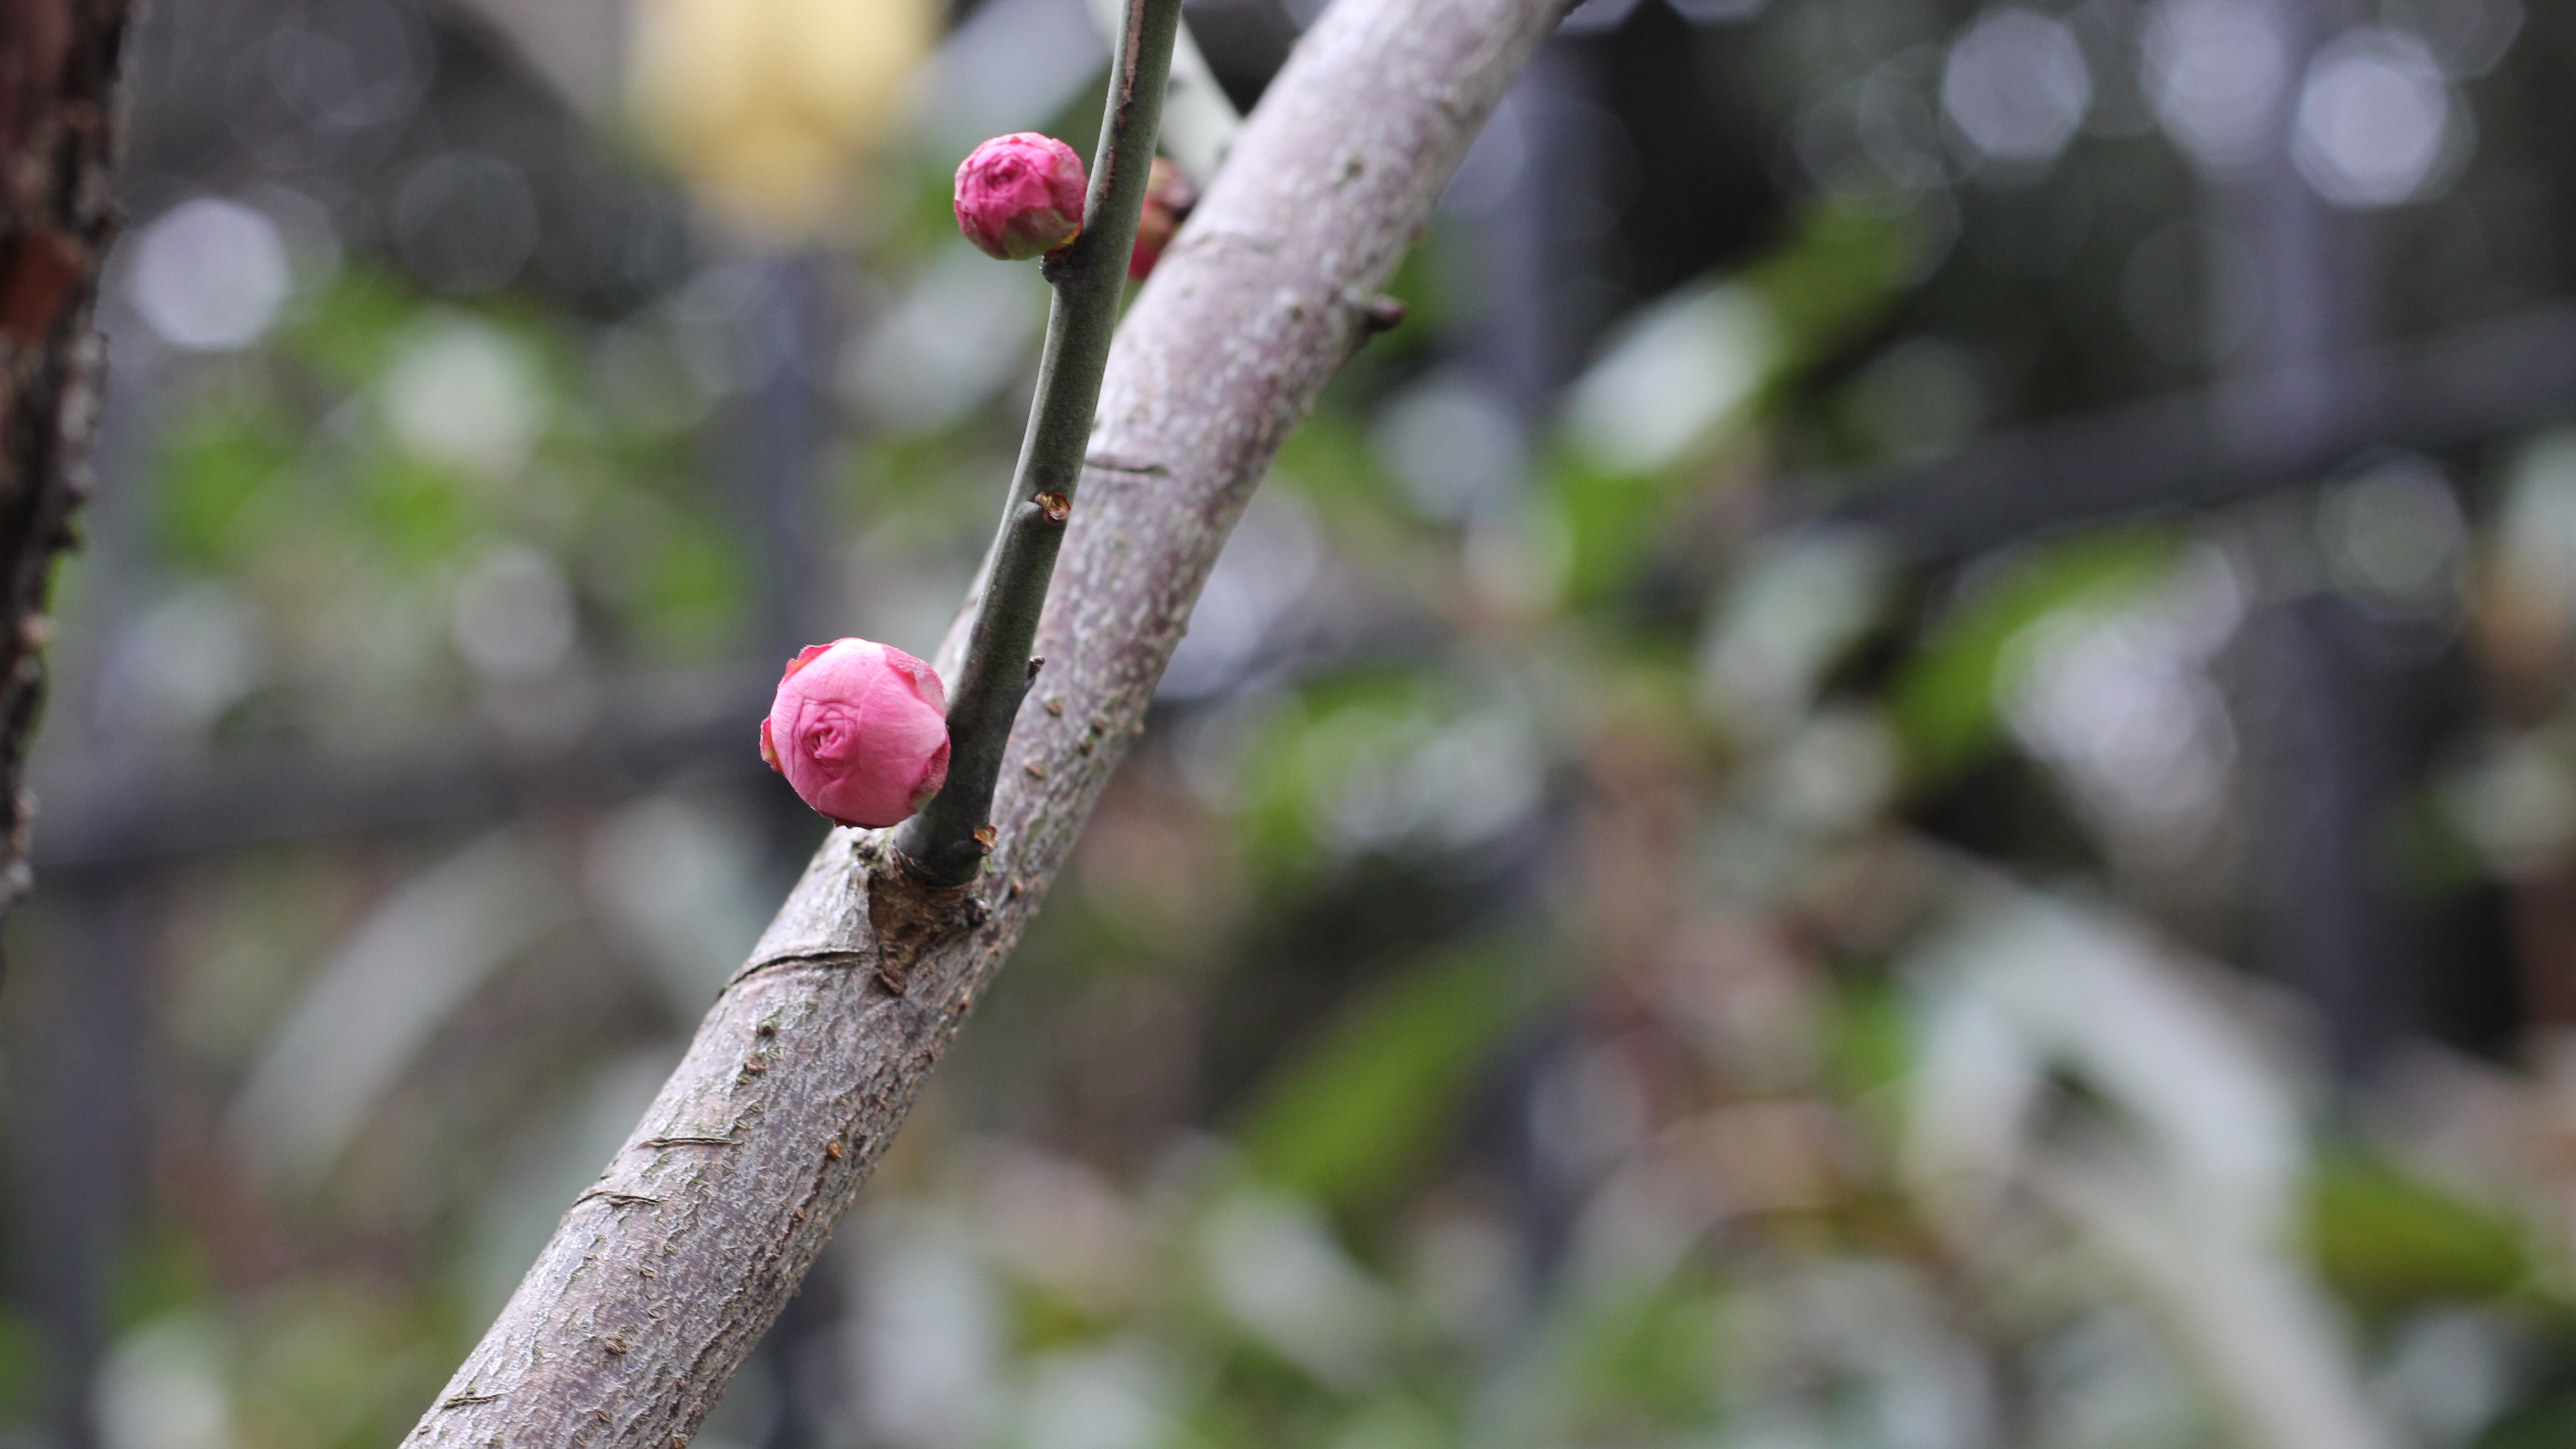
[[[2287,1250],[2306,1132],[2280,1062],[2128,923],[1999,879],[1906,975],[1927,987],[1906,1178],[1945,1227],[2030,1189],[2112,1263],[2249,1444],[2393,1449],[2334,1305]],[[2058,1078],[2089,1111],[2043,1111]],[[2074,1116],[2074,1119],[2071,1119]]]

